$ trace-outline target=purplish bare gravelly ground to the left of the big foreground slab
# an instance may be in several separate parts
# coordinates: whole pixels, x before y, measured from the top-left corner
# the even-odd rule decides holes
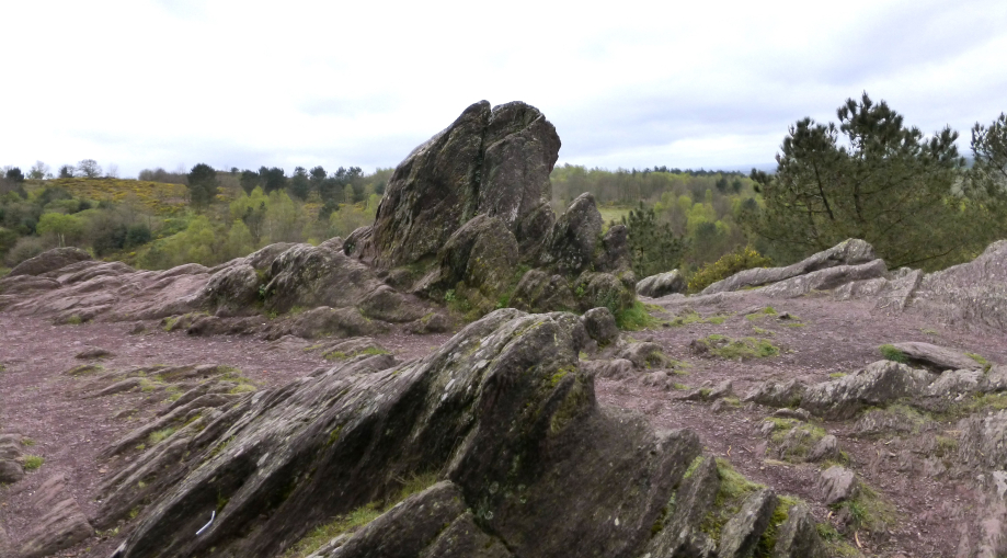
[[[44,510],[32,505],[33,492],[54,475],[64,475],[67,488],[85,514],[93,514],[93,500],[105,475],[96,455],[110,443],[153,417],[167,401],[163,392],[127,392],[102,399],[81,399],[84,380],[64,375],[84,361],[75,355],[101,348],[114,356],[94,361],[107,371],[158,364],[219,364],[239,368],[260,387],[275,387],[334,363],[316,353],[277,349],[267,342],[236,335],[197,338],[168,333],[156,322],[131,334],[136,323],[83,323],[53,326],[34,318],[0,314],[0,432],[31,439],[31,455],[44,465],[24,480],[0,487],[0,525],[14,547],[31,532]],[[449,335],[390,333],[376,338],[400,360],[422,356]],[[114,547],[116,537],[91,539],[60,553],[83,556],[90,550]],[[90,550],[89,550],[90,549]]]

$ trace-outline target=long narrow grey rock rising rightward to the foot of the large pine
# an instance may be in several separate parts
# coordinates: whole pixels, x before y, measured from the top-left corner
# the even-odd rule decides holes
[[[828,250],[819,252],[786,267],[760,267],[745,270],[713,283],[702,291],[703,295],[739,291],[777,283],[799,275],[839,265],[855,266],[874,260],[874,249],[863,240],[851,238]]]

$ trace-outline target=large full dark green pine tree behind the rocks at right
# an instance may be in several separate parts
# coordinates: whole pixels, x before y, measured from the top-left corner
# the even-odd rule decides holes
[[[955,195],[964,166],[958,134],[946,127],[926,138],[867,93],[837,115],[838,127],[811,118],[791,126],[776,174],[753,170],[765,208],[745,215],[751,229],[785,261],[847,238],[873,244],[890,267],[962,259],[970,207]]]

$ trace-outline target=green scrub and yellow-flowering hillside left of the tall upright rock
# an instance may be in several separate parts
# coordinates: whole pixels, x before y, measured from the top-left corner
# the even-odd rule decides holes
[[[331,175],[321,167],[188,173],[103,173],[93,160],[56,178],[36,163],[0,179],[0,261],[11,267],[44,250],[77,246],[144,269],[215,265],[273,242],[318,243],[369,224],[390,169]]]

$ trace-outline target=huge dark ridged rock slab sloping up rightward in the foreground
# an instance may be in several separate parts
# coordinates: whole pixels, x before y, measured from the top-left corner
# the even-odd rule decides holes
[[[421,361],[350,363],[247,397],[180,440],[176,478],[156,487],[124,557],[276,556],[426,471],[515,556],[636,555],[699,440],[599,409],[576,328],[502,309]],[[213,512],[199,537],[178,536]]]

